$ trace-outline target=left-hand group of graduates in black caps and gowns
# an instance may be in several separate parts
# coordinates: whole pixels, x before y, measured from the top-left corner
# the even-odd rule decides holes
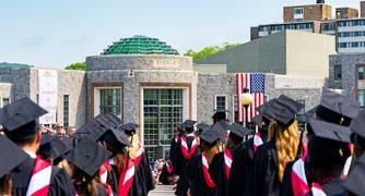
[[[0,195],[146,196],[154,180],[136,130],[101,114],[68,136],[43,132],[28,98],[0,110]]]

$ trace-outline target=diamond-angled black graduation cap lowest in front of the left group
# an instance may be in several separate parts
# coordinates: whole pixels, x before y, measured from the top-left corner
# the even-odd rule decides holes
[[[111,157],[111,152],[95,142],[83,138],[67,156],[67,160],[73,163],[89,176],[93,176],[101,166]]]

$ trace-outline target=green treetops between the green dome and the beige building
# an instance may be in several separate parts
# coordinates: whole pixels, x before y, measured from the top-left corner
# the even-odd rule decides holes
[[[213,56],[217,52],[222,52],[225,50],[228,50],[231,48],[235,48],[237,46],[239,46],[240,44],[228,44],[225,42],[223,44],[223,46],[210,46],[210,47],[205,47],[202,50],[196,52],[193,50],[188,50],[184,56],[189,56],[192,57],[193,60],[198,60],[198,59],[202,59],[205,58],[208,56]]]

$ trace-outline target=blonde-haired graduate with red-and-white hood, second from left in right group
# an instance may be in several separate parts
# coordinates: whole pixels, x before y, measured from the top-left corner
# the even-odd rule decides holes
[[[213,157],[221,149],[217,131],[209,127],[200,134],[200,154],[193,155],[187,164],[186,173],[191,196],[214,196],[216,184],[209,174],[209,168]]]

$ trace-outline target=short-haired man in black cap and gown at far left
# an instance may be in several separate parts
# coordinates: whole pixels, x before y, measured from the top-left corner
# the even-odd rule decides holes
[[[16,100],[0,110],[0,124],[4,127],[4,134],[30,156],[11,172],[12,195],[14,196],[38,191],[35,186],[28,191],[30,183],[40,183],[31,182],[33,170],[37,171],[34,169],[36,161],[44,162],[48,164],[47,168],[51,168],[48,195],[75,195],[74,186],[66,171],[36,157],[42,139],[37,119],[45,113],[47,112],[44,109],[28,98]],[[45,182],[46,179],[42,181]]]

